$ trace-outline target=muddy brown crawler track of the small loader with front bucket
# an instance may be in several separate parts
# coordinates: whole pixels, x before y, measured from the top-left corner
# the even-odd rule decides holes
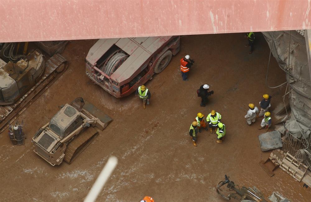
[[[81,134],[78,134],[68,145],[65,151],[64,161],[71,164],[80,154],[83,152],[87,146],[92,142],[92,140],[97,137],[98,131],[89,127],[84,130]]]

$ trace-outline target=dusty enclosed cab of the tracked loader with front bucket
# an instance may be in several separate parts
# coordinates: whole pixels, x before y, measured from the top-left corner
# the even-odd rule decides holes
[[[49,122],[49,128],[57,134],[60,139],[63,139],[82,125],[82,123],[83,118],[80,116],[80,112],[69,104],[65,104],[64,107],[53,116]]]

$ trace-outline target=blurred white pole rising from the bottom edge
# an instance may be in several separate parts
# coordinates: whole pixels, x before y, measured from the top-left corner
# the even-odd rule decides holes
[[[112,171],[114,171],[114,168],[117,166],[117,164],[117,157],[110,156],[103,170],[100,172],[95,183],[93,184],[91,190],[84,199],[84,202],[95,202],[97,196],[99,195],[100,191],[104,187],[106,181],[110,177]]]

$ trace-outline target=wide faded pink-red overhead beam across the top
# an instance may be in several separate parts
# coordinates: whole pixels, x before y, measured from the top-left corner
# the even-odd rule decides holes
[[[0,42],[310,29],[305,1],[0,1]]]

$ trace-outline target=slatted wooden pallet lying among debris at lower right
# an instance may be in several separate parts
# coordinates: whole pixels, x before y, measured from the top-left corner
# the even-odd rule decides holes
[[[301,182],[309,167],[300,163],[294,156],[287,152],[280,168],[292,176],[295,180]]]

